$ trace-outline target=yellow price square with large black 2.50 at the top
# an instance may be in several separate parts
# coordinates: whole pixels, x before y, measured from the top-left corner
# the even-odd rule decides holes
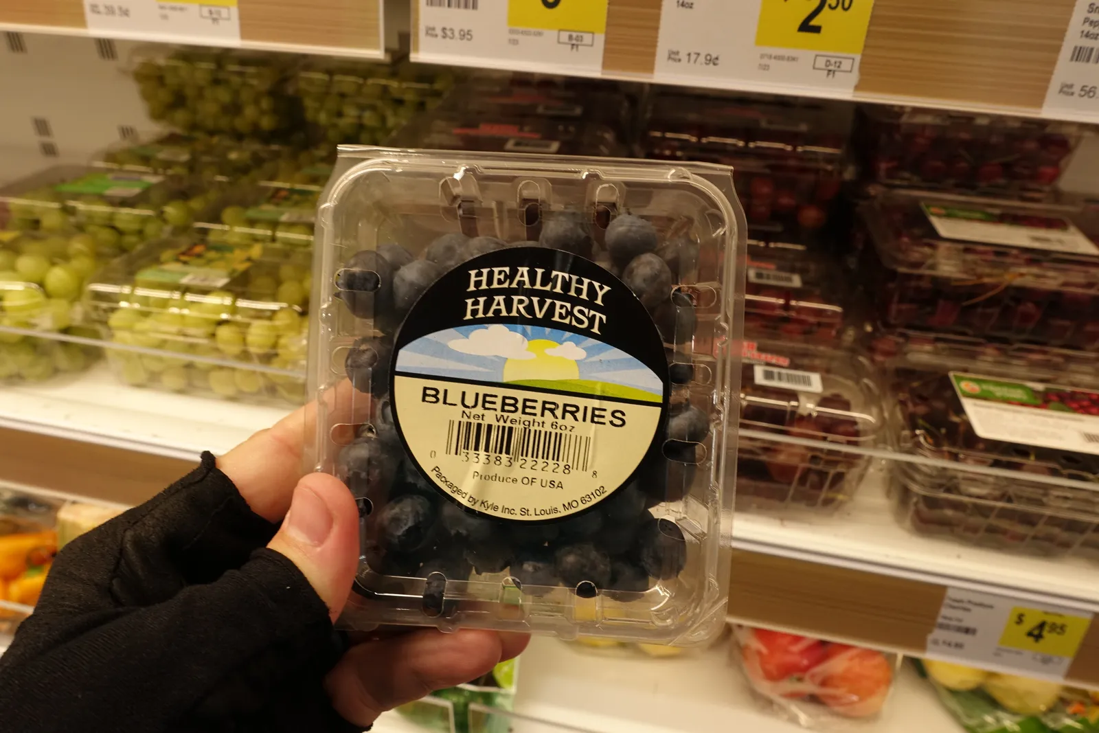
[[[863,53],[874,0],[761,1],[757,46]]]

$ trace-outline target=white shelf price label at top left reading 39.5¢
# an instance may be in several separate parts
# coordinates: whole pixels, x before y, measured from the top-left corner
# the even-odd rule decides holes
[[[136,41],[240,45],[236,0],[84,0],[93,35]]]

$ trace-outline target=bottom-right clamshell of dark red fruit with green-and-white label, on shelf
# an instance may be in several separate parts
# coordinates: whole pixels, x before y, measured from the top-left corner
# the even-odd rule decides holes
[[[903,524],[1034,554],[1099,551],[1099,492],[1069,482],[1099,487],[1094,371],[1088,379],[1057,377],[926,351],[889,365],[896,449],[958,465],[893,462],[892,496]]]

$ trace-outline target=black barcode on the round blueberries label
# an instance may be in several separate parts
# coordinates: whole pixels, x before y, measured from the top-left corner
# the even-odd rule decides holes
[[[554,430],[492,425],[471,420],[451,420],[446,431],[446,453],[458,456],[467,451],[515,458],[534,458],[588,470],[591,437]]]

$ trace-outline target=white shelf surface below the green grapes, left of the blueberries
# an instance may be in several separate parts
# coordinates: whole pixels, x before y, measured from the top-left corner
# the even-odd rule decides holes
[[[289,408],[121,385],[106,363],[70,378],[0,388],[0,426],[193,460],[221,455]]]

